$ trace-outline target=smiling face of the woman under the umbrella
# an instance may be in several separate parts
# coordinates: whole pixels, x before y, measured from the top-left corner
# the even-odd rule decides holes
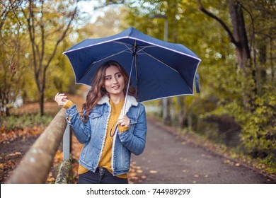
[[[110,96],[124,96],[123,89],[125,88],[125,79],[117,66],[112,65],[105,70],[104,86]]]

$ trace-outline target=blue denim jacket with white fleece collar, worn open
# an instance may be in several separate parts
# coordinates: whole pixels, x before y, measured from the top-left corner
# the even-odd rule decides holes
[[[126,132],[116,132],[113,136],[111,168],[113,175],[121,175],[130,171],[131,153],[139,155],[146,145],[146,113],[144,105],[128,95],[126,115],[130,119],[130,128]],[[82,122],[76,105],[67,109],[67,123],[71,125],[76,139],[84,148],[79,163],[92,172],[96,171],[105,143],[111,106],[108,96],[103,96],[93,108],[87,122]],[[70,117],[70,119],[69,119]]]

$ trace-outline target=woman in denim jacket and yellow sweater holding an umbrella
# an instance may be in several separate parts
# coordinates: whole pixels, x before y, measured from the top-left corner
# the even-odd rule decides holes
[[[67,122],[84,148],[79,157],[79,183],[128,183],[130,155],[139,155],[146,144],[144,105],[130,87],[125,115],[122,107],[129,77],[115,61],[102,64],[93,78],[81,117],[63,93],[54,100],[67,109]]]

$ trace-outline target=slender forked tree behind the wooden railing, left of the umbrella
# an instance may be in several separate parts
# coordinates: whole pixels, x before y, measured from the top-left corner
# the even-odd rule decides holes
[[[35,1],[29,1],[28,11],[23,11],[26,21],[28,22],[28,32],[30,35],[30,43],[33,52],[33,69],[35,73],[35,83],[38,87],[38,93],[40,96],[40,115],[44,115],[44,99],[45,99],[45,86],[47,79],[47,69],[54,58],[54,54],[57,52],[57,47],[60,42],[64,40],[64,37],[67,35],[71,23],[74,21],[77,11],[77,5],[74,8],[74,11],[69,11],[67,18],[68,21],[66,24],[60,24],[54,32],[57,32],[59,38],[54,40],[54,49],[50,52],[49,55],[45,54],[45,46],[48,42],[53,42],[47,40],[47,35],[45,35],[45,27],[47,27],[47,18],[44,16],[47,11],[45,11],[45,1],[41,1],[41,4],[35,4]],[[47,6],[47,4],[46,4]],[[47,9],[46,9],[47,10]],[[53,13],[54,14],[54,13]],[[39,17],[38,17],[39,16]],[[38,18],[40,18],[38,20]],[[39,28],[36,28],[39,27]]]

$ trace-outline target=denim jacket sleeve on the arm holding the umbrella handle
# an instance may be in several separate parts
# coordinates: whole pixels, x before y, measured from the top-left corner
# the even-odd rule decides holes
[[[128,129],[126,132],[118,133],[122,144],[136,156],[143,153],[146,146],[146,111],[144,105],[141,104],[139,109],[137,123],[134,125],[133,132]]]

